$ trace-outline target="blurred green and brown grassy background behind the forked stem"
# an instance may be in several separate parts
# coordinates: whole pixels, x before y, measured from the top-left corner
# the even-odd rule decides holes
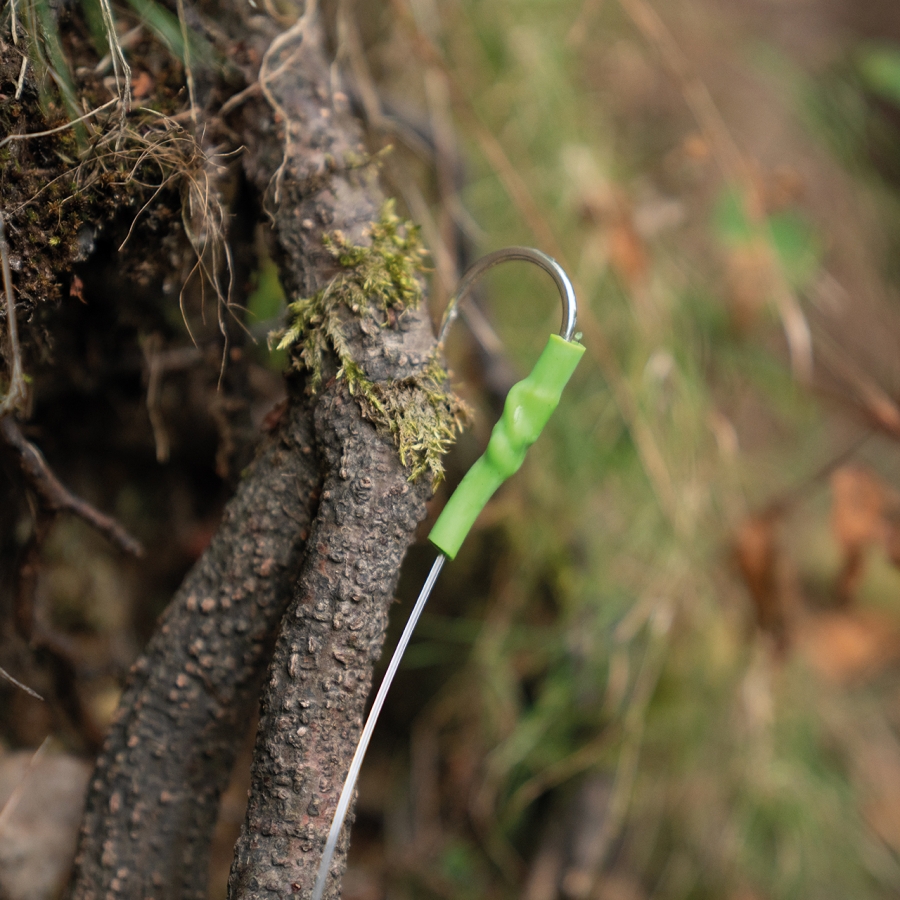
[[[325,14],[371,149],[391,148],[389,190],[430,248],[435,319],[468,263],[527,244],[568,270],[587,347],[429,602],[363,770],[344,896],[898,896],[900,5],[345,0]],[[283,303],[257,245],[254,327]],[[432,519],[558,323],[539,271],[481,283],[448,346],[472,426]],[[262,411],[280,363],[247,352]],[[167,376],[168,468],[134,426],[140,487],[45,446],[139,534],[154,575],[54,526],[42,596],[91,660],[84,721],[0,688],[17,765],[48,733],[88,754],[215,526],[240,469],[223,462],[215,364]],[[212,412],[179,442],[185,397]],[[0,514],[15,525],[17,508]],[[410,552],[391,641],[432,559],[424,540]],[[17,653],[5,668],[52,680]]]

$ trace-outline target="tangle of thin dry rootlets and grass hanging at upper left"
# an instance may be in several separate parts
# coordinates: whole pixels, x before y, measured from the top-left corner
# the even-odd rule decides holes
[[[11,234],[18,235],[17,229],[20,225],[18,214],[27,207],[31,207],[27,213],[32,217],[29,221],[40,221],[45,216],[47,207],[44,205],[42,208],[38,201],[40,198],[46,201],[48,194],[52,205],[57,209],[85,210],[84,217],[79,213],[74,215],[70,213],[68,216],[66,224],[71,227],[66,228],[61,237],[71,245],[66,247],[68,260],[64,259],[64,254],[57,249],[54,255],[56,263],[44,266],[39,278],[33,279],[36,282],[42,281],[43,284],[20,285],[20,304],[26,302],[26,305],[27,303],[34,305],[44,297],[52,299],[53,289],[51,287],[48,293],[48,282],[62,277],[66,271],[66,264],[80,258],[77,256],[74,236],[83,222],[97,221],[98,215],[102,220],[108,215],[115,215],[117,209],[134,203],[140,209],[129,229],[127,241],[134,231],[135,224],[160,194],[173,191],[181,195],[182,224],[196,258],[195,265],[185,280],[187,282],[194,275],[199,275],[202,278],[201,292],[208,287],[212,288],[217,302],[219,328],[227,350],[226,322],[231,305],[232,260],[226,243],[227,215],[222,208],[217,186],[224,169],[224,155],[216,148],[209,149],[202,146],[204,136],[197,132],[196,85],[191,68],[192,36],[189,34],[185,18],[184,4],[178,0],[178,19],[184,44],[184,56],[181,61],[184,65],[190,108],[183,116],[167,116],[146,108],[132,110],[132,73],[123,51],[123,43],[126,42],[127,36],[122,40],[118,36],[110,0],[99,0],[99,3],[109,54],[98,68],[109,66],[112,69],[116,97],[85,112],[80,105],[83,101],[76,96],[74,83],[66,74],[70,63],[64,55],[62,36],[58,28],[54,27],[55,20],[49,24],[43,20],[39,21],[33,10],[34,0],[24,0],[18,4],[19,11],[24,16],[19,22],[16,3],[10,0],[13,43],[22,44],[18,41],[20,31],[29,38],[28,55],[23,59],[17,92],[24,85],[22,76],[25,69],[29,64],[34,64],[57,81],[59,91],[66,100],[70,120],[54,128],[30,134],[2,134],[0,150],[12,142],[27,142],[69,132],[64,138],[66,155],[61,158],[75,158],[71,168],[58,167],[56,177],[52,177],[51,173],[50,177],[34,186],[36,190],[21,191],[8,202]],[[38,30],[38,26],[43,31]],[[177,121],[178,118],[187,116],[190,116],[193,123],[194,133],[186,131]],[[190,128],[190,125],[188,127]],[[73,129],[75,140],[71,138]],[[46,148],[42,152],[47,152]],[[72,203],[73,198],[78,198],[78,202]],[[37,219],[34,218],[35,211]],[[59,229],[45,230],[54,237],[60,234]],[[30,231],[32,233],[28,235],[27,240],[35,243],[34,232],[37,229],[31,228]],[[59,247],[59,244],[54,243],[53,246]],[[18,243],[14,249],[19,249]],[[53,268],[54,271],[46,271],[48,268]],[[183,291],[184,288],[179,303],[185,326],[193,340],[194,335],[187,318]],[[226,358],[227,353],[223,352],[223,370]],[[15,383],[12,387],[16,387]],[[8,399],[12,401],[14,398]],[[12,408],[12,405],[10,402],[6,407],[0,407],[0,413],[4,409]]]

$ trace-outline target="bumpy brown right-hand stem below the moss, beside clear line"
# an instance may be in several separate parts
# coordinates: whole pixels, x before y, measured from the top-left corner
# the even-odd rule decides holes
[[[326,479],[263,697],[233,898],[308,896],[362,728],[400,562],[427,489],[333,386],[316,410]],[[346,841],[339,846],[343,866]],[[336,879],[332,894],[338,892]]]

